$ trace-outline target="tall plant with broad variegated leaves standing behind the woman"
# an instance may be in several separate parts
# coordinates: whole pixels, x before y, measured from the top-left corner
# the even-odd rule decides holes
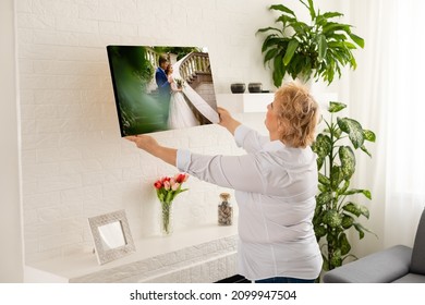
[[[325,240],[321,245],[324,270],[341,266],[347,257],[353,256],[350,254],[348,230],[354,228],[360,239],[363,239],[365,232],[369,232],[357,221],[361,216],[369,217],[367,207],[349,198],[359,194],[371,199],[371,192],[353,188],[350,182],[355,172],[354,150],[360,148],[371,156],[364,144],[375,142],[376,136],[353,119],[333,117],[333,113],[345,107],[341,102],[329,103],[330,120],[323,120],[326,127],[318,133],[312,145],[317,155],[319,171],[319,192],[313,224],[317,241]]]

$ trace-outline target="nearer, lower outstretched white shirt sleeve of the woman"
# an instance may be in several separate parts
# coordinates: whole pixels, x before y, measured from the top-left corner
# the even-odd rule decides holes
[[[264,193],[265,169],[257,154],[206,156],[179,149],[177,166],[199,180],[236,191]]]

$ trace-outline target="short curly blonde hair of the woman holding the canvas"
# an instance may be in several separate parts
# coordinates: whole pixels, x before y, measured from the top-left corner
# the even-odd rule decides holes
[[[318,103],[308,89],[295,82],[287,83],[275,94],[280,139],[291,147],[305,148],[315,139]]]

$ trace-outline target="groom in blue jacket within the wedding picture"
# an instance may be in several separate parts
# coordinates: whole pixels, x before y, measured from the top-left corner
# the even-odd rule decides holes
[[[170,107],[171,98],[171,85],[168,82],[168,76],[166,74],[166,68],[169,64],[168,58],[166,54],[161,54],[158,60],[158,68],[155,72],[155,81],[158,86],[159,101],[161,103],[163,123],[167,124],[168,121],[168,111]]]

